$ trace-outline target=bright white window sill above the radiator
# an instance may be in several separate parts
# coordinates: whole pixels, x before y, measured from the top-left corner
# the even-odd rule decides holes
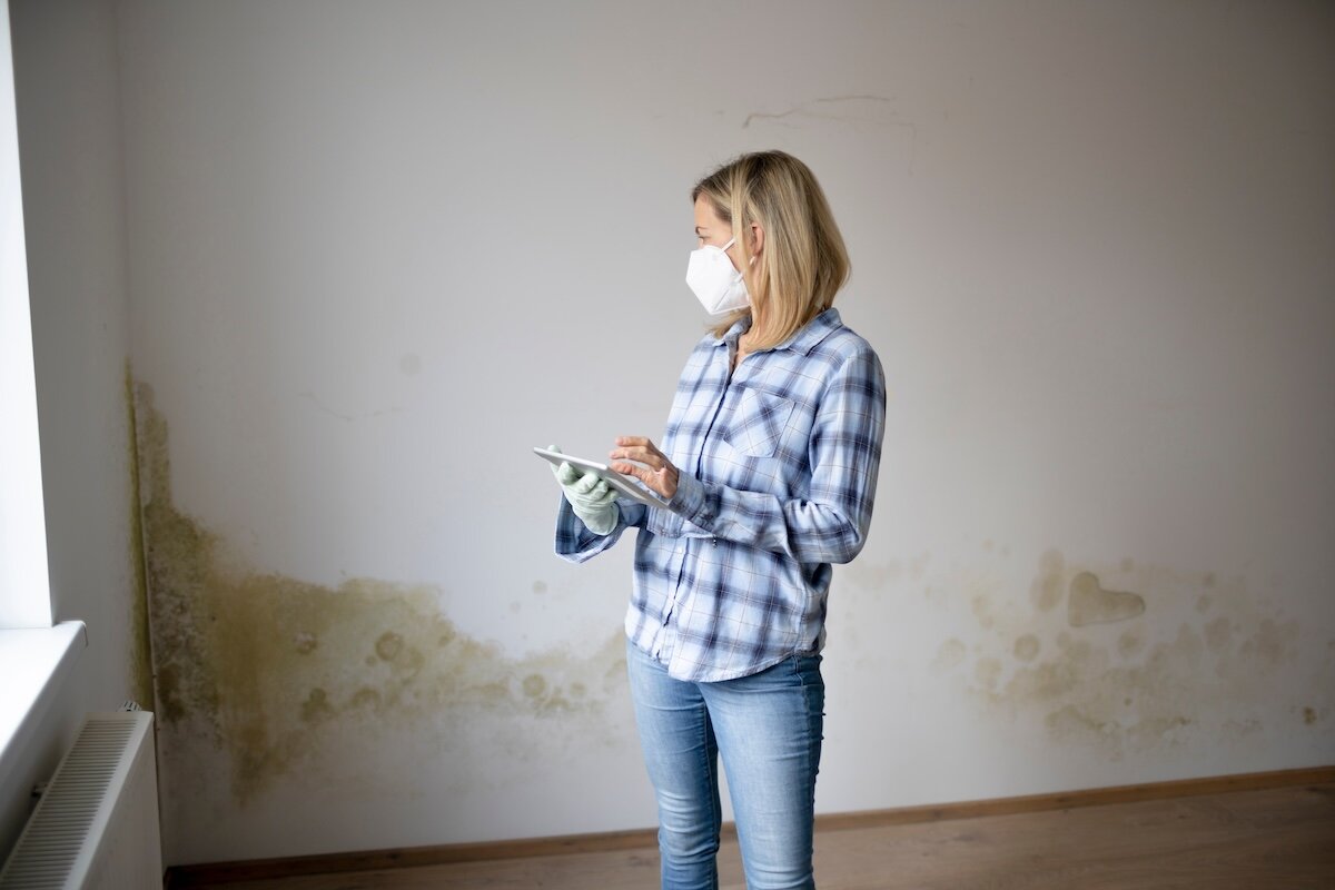
[[[23,750],[56,690],[88,647],[83,622],[0,630],[0,774]]]

